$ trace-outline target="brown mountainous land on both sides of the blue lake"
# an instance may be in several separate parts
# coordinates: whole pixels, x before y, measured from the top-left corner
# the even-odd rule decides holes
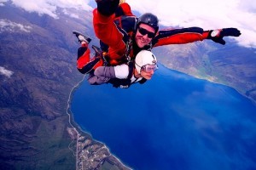
[[[54,19],[28,13],[11,3],[0,7],[3,169],[76,166],[76,146],[72,145],[70,150],[73,139],[67,130],[71,127],[67,102],[73,87],[84,76],[76,69],[79,42],[72,31],[86,33],[93,38],[92,44],[97,45],[98,40],[90,12],[58,8],[58,13],[60,18]],[[153,52],[170,69],[228,85],[256,101],[255,48],[243,48],[232,41],[225,46],[205,41],[155,48]],[[118,161],[111,162],[115,165]],[[125,167],[119,165],[122,168]]]

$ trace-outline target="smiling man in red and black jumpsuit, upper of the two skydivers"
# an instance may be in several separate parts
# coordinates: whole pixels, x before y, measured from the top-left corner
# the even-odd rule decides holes
[[[236,28],[203,31],[200,27],[159,30],[157,16],[146,13],[140,17],[121,15],[116,17],[119,0],[96,0],[97,8],[93,10],[93,25],[98,37],[105,44],[104,59],[90,59],[88,43],[82,43],[84,51],[79,54],[78,69],[82,73],[96,70],[106,65],[122,65],[134,60],[143,49],[168,44],[183,44],[211,39],[213,42],[225,44],[224,37],[239,37]],[[131,9],[131,8],[130,8]],[[76,34],[78,37],[79,34]],[[81,53],[81,51],[80,51]]]

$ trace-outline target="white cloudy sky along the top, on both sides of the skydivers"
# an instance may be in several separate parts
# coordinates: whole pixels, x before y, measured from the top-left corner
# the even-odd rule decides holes
[[[96,5],[94,0],[0,0],[0,6],[7,2],[28,12],[48,14],[56,20],[57,7],[91,11]],[[126,3],[131,5],[132,10],[139,11],[139,14],[156,14],[160,26],[198,26],[204,30],[236,27],[241,31],[241,36],[231,38],[241,46],[256,48],[255,0],[126,0]]]

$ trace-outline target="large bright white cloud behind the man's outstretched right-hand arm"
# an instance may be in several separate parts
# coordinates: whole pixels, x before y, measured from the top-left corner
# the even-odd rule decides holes
[[[199,26],[204,30],[236,27],[241,46],[256,48],[256,3],[254,0],[126,0],[140,14],[156,14],[163,26]],[[166,3],[167,2],[167,3]]]

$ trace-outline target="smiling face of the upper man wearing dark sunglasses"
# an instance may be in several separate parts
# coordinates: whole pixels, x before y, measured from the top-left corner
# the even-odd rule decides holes
[[[139,48],[143,48],[145,45],[148,45],[148,43],[151,42],[153,37],[148,37],[148,34],[154,34],[154,28],[143,23],[140,24],[135,35],[135,41],[137,42],[137,46]]]

